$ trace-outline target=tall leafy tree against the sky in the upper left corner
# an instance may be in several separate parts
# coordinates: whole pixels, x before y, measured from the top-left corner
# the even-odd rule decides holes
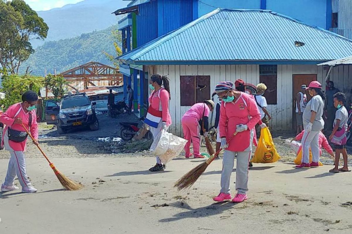
[[[21,63],[34,52],[30,41],[46,38],[48,29],[25,1],[0,1],[0,65],[18,74]]]

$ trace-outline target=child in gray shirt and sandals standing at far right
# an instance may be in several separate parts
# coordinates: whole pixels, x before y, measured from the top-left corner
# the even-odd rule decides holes
[[[348,112],[344,107],[346,102],[346,96],[344,93],[338,92],[334,94],[334,107],[338,110],[335,113],[335,120],[333,124],[333,131],[329,136],[329,139],[333,143],[333,148],[335,149],[335,167],[329,172],[349,172],[347,165],[347,151],[346,151],[346,130],[347,130],[347,118]],[[344,166],[339,168],[340,153],[344,157]]]

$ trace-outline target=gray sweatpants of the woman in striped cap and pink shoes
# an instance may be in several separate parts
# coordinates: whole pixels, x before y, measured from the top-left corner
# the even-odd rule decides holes
[[[252,151],[232,152],[225,150],[222,159],[221,193],[230,193],[230,178],[236,154],[236,190],[237,193],[242,194],[248,191],[248,166]]]

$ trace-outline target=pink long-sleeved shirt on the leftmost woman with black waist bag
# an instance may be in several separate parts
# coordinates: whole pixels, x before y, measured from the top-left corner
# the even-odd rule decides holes
[[[16,113],[19,110],[20,110],[20,112],[15,117]],[[31,113],[32,113],[32,126],[30,129],[30,132],[31,132],[34,139],[38,139],[38,123],[37,123],[36,110],[31,111]],[[28,126],[29,112],[24,111],[24,109],[21,107],[21,103],[16,103],[16,104],[10,106],[7,109],[7,111],[0,116],[0,122],[4,123],[6,125],[6,127],[4,129],[4,133],[7,131],[8,126],[10,126],[12,129],[17,130],[17,131],[21,131],[21,132],[26,131],[21,125],[13,123],[15,121],[14,118],[22,119],[24,126],[27,129],[29,129],[29,126]],[[28,138],[29,138],[29,136],[28,136]],[[25,151],[26,150],[26,142],[27,142],[27,140],[24,140],[22,142],[8,141],[10,147],[14,151]],[[2,135],[1,145],[4,146],[4,134]]]

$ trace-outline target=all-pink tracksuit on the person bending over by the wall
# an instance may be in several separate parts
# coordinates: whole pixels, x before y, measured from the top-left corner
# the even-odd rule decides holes
[[[204,117],[209,117],[210,109],[204,102],[194,104],[182,117],[182,130],[184,139],[188,140],[184,151],[186,157],[190,156],[189,147],[193,144],[193,154],[200,156],[200,126],[199,121]]]

